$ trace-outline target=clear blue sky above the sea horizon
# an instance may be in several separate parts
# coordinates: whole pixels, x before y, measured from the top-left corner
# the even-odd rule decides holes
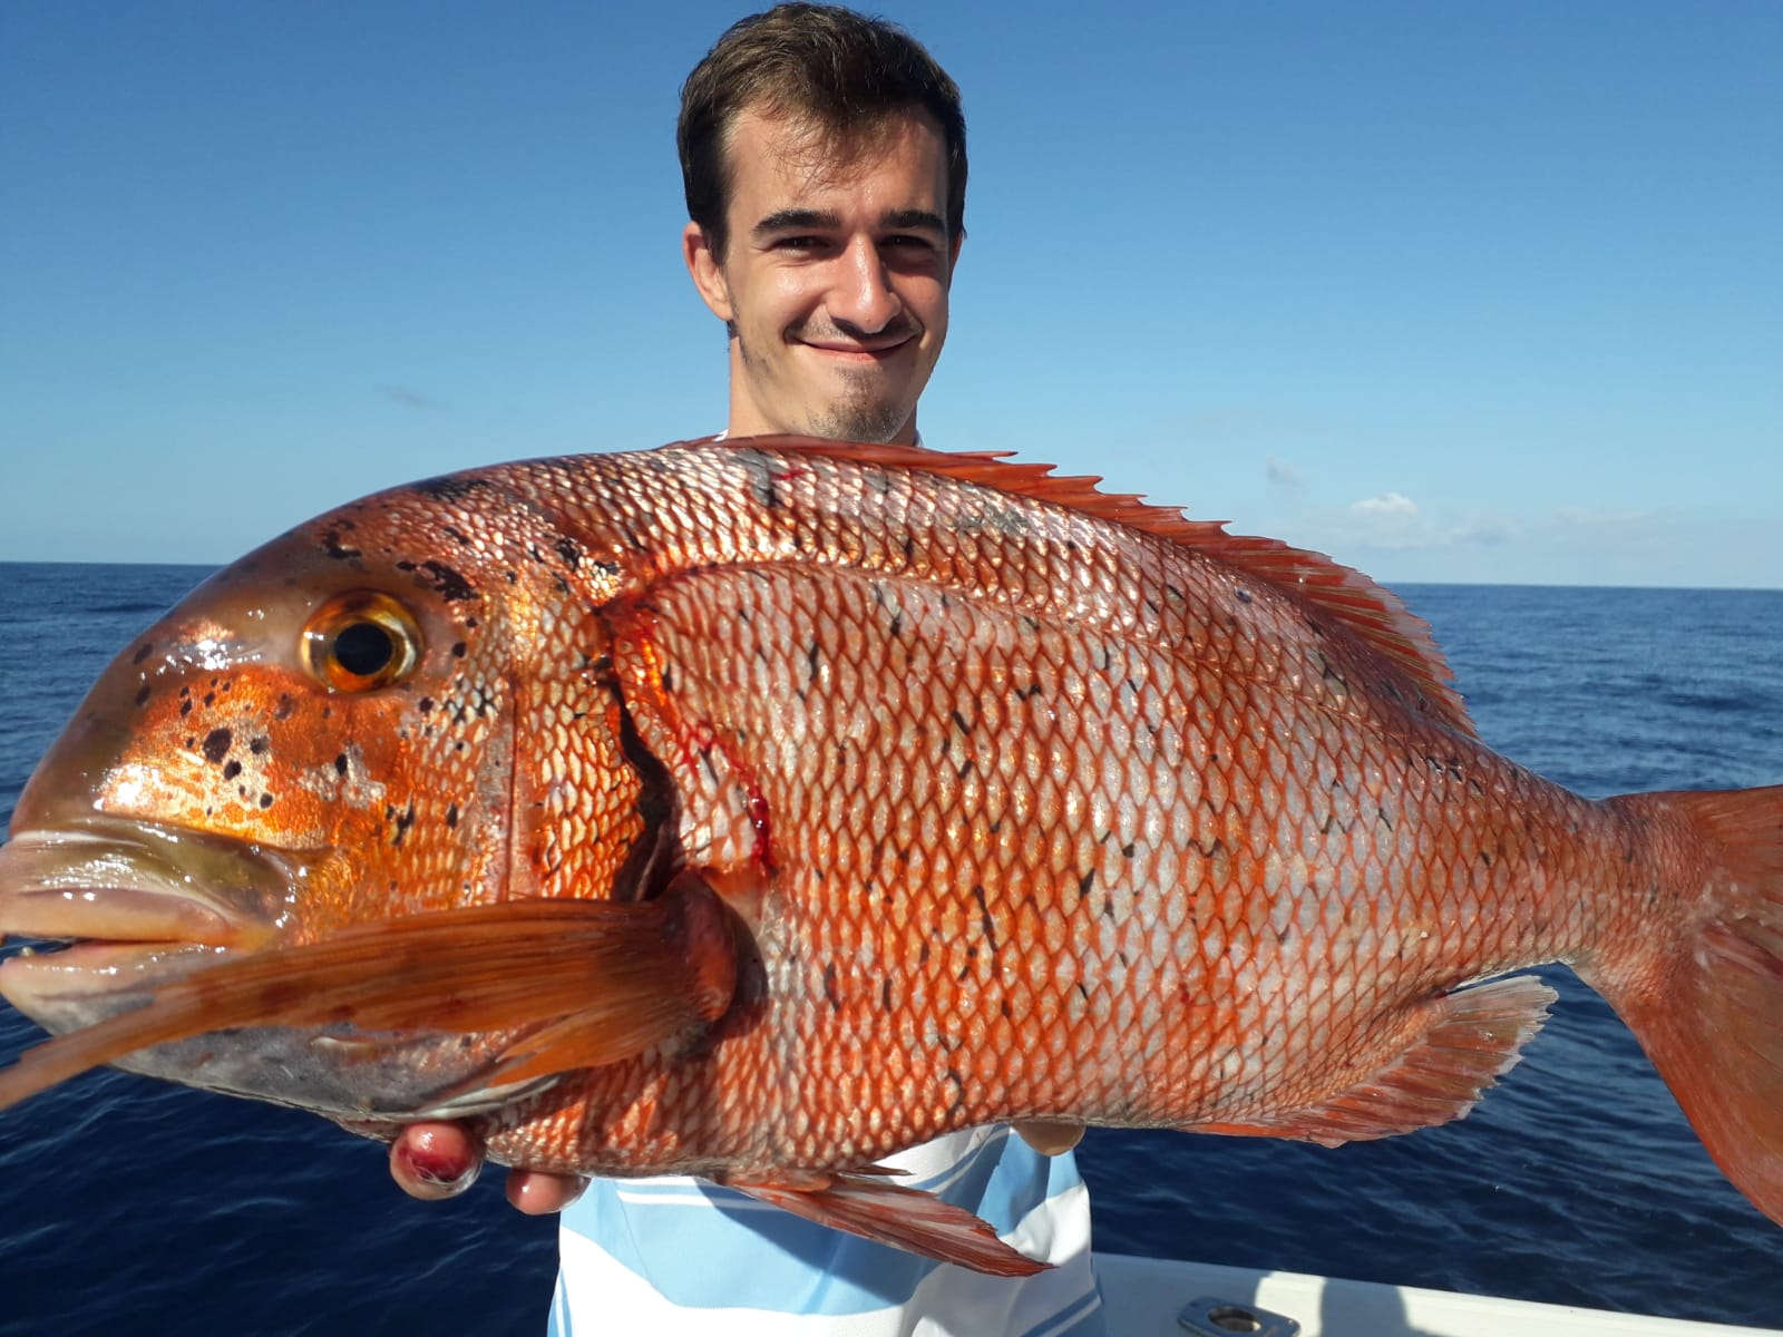
[[[223,562],[722,424],[751,5],[0,5],[0,560]],[[1783,5],[884,4],[972,148],[940,447],[1387,581],[1783,586]]]

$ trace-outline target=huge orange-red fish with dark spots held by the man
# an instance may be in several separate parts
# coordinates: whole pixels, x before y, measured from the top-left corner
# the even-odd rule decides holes
[[[1535,690],[1532,686],[1532,690]],[[993,1120],[1466,1114],[1564,961],[1783,1219],[1783,786],[1589,802],[1366,578],[990,456],[758,439],[382,492],[105,670],[0,993],[510,1166],[692,1173],[986,1271],[875,1162]]]

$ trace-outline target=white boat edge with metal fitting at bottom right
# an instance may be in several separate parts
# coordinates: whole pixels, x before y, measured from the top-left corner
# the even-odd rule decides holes
[[[1098,1253],[1113,1337],[1776,1337],[1453,1291]],[[1277,1319],[1289,1319],[1289,1326]]]

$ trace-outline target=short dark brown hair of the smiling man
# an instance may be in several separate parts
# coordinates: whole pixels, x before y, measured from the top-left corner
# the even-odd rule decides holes
[[[724,258],[729,130],[745,107],[808,118],[849,141],[899,112],[934,118],[947,144],[947,234],[966,219],[966,118],[959,87],[904,29],[840,5],[785,4],[738,20],[681,86],[686,216]]]

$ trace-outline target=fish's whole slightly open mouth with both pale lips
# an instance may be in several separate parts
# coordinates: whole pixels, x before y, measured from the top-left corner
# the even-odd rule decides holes
[[[111,816],[23,831],[0,847],[0,997],[62,1032],[146,989],[280,936],[291,856],[200,831]]]

